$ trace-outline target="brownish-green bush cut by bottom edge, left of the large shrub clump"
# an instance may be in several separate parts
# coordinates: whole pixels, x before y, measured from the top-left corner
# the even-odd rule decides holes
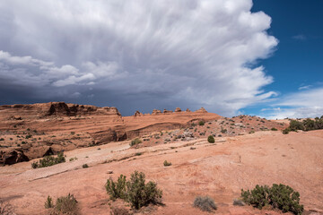
[[[77,201],[73,194],[68,193],[66,196],[57,198],[57,202],[53,210],[54,214],[68,214],[76,215],[78,214]]]

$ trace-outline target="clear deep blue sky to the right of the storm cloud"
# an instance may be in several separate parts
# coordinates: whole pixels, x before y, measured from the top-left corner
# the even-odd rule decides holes
[[[321,88],[323,2],[255,0],[253,3],[253,12],[264,11],[272,18],[268,33],[279,40],[273,56],[258,62],[266,67],[266,73],[272,75],[275,80],[264,89],[275,90],[279,94],[278,97],[284,97],[301,90]],[[268,103],[246,107],[241,111],[247,114],[266,115],[266,112],[261,111],[266,106]],[[311,113],[309,116],[312,116]]]

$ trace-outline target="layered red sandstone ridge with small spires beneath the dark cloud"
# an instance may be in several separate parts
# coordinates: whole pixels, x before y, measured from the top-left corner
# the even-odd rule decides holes
[[[57,154],[62,150],[118,142],[187,127],[193,120],[214,120],[220,116],[206,111],[176,112],[154,109],[152,115],[139,111],[121,116],[116,107],[49,102],[0,106],[0,151],[6,164]],[[30,137],[26,137],[31,135]],[[18,144],[19,143],[19,144]]]

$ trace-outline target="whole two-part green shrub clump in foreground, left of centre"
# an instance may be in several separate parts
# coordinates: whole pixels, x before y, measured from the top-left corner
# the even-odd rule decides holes
[[[137,171],[131,174],[129,181],[126,181],[126,176],[123,175],[118,177],[117,183],[108,179],[106,189],[111,199],[124,199],[135,209],[150,203],[159,203],[162,199],[162,190],[157,188],[157,184],[152,181],[145,184],[144,173]]]

